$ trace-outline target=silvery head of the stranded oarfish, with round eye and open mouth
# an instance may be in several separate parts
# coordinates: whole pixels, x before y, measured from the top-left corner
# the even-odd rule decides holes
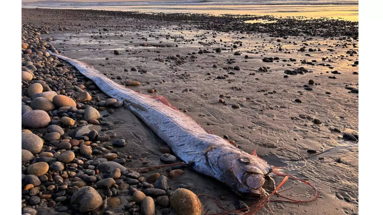
[[[272,167],[262,158],[235,149],[214,150],[206,153],[214,177],[217,176],[234,192],[245,198],[260,197],[265,190],[262,188],[265,175]]]

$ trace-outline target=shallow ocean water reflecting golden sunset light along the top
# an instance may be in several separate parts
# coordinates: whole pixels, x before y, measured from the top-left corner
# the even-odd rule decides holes
[[[164,13],[273,15],[327,17],[358,21],[358,0],[167,0],[27,4],[23,8],[94,9]]]

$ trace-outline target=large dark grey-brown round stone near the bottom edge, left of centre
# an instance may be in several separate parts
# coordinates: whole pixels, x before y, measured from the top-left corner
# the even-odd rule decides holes
[[[82,213],[96,210],[101,204],[100,194],[90,186],[81,187],[70,198],[70,205]]]

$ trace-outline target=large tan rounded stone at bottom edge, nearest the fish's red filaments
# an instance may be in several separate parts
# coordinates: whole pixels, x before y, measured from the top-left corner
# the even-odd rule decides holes
[[[177,214],[201,214],[201,208],[198,206],[201,205],[201,202],[197,195],[184,188],[178,188],[173,192],[173,194],[170,196],[170,205],[174,208]]]

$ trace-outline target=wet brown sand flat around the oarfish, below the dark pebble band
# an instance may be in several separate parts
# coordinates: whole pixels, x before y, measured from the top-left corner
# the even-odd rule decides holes
[[[221,137],[228,135],[242,150],[248,153],[257,150],[270,165],[293,168],[287,171],[318,187],[321,197],[314,202],[270,203],[275,214],[358,213],[358,144],[342,139],[344,133],[358,132],[358,93],[345,88],[358,88],[358,66],[352,66],[358,61],[357,38],[284,39],[270,37],[270,33],[207,30],[189,21],[105,16],[95,22],[92,16],[86,19],[87,16],[57,15],[54,10],[23,9],[22,21],[51,26],[49,34],[42,37],[52,38],[50,42],[62,55],[93,65],[117,83],[140,81],[141,86],[129,88],[165,96],[181,111],[187,110],[186,114],[205,130],[214,130]],[[59,26],[68,30],[59,31]],[[299,51],[303,46],[305,51]],[[221,52],[216,53],[217,47]],[[308,51],[309,48],[316,51]],[[206,53],[192,54],[204,49]],[[113,54],[114,50],[121,54]],[[234,55],[237,51],[241,55]],[[169,56],[177,54],[179,60],[170,59]],[[264,62],[265,57],[275,60]],[[312,65],[302,64],[302,60]],[[240,70],[230,68],[234,66]],[[138,71],[131,71],[132,67]],[[260,71],[260,67],[267,67],[267,71]],[[300,67],[308,72],[284,78],[285,70]],[[331,73],[336,70],[340,74]],[[224,75],[225,79],[217,78]],[[118,76],[122,79],[117,79]],[[309,80],[314,84],[309,84]],[[151,88],[156,92],[147,93]],[[220,103],[220,98],[227,105]],[[232,108],[232,104],[239,104],[240,109]],[[314,119],[319,119],[319,124]],[[131,112],[117,109],[108,120],[115,122],[116,138],[128,142],[126,147],[117,149],[133,157],[127,166],[160,164],[162,153],[158,148],[165,143]],[[309,153],[310,149],[316,152]],[[142,164],[142,160],[147,163]],[[185,174],[169,181],[171,187],[187,187],[196,194],[231,194],[223,203],[234,209],[232,202],[239,197],[231,190],[214,179],[184,170]],[[281,180],[274,178],[276,182]],[[284,187],[293,183],[289,181]],[[299,183],[285,195],[305,199],[312,191]],[[215,200],[201,198],[201,201],[206,212],[221,212]],[[111,210],[123,212],[123,206]],[[259,212],[269,213],[267,208]]]

